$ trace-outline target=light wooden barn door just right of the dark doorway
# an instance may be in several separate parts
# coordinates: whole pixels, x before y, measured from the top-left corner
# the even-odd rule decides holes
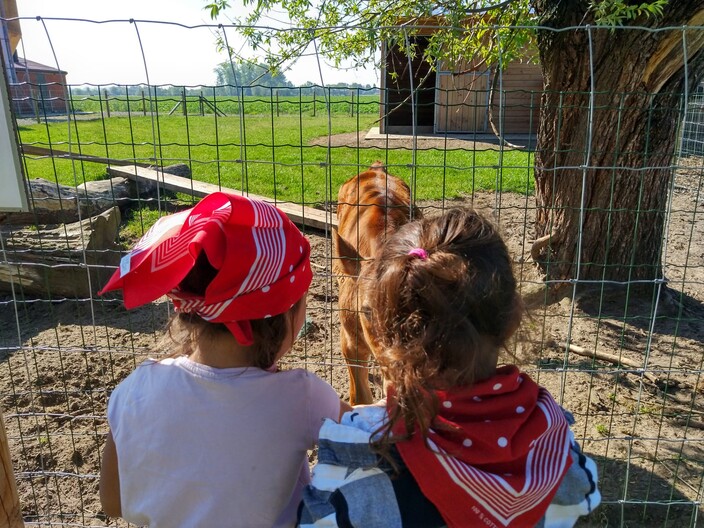
[[[486,132],[489,72],[437,74],[435,132]]]

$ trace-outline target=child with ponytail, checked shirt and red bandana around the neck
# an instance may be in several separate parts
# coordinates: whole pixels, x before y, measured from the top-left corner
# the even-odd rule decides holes
[[[566,528],[599,504],[571,415],[498,365],[523,310],[486,218],[404,225],[360,284],[387,399],[325,421],[301,526]]]

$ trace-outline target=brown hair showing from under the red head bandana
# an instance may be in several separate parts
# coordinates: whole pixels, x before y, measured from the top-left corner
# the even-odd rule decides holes
[[[202,252],[179,288],[188,293],[205,295],[205,289],[216,274],[217,270],[210,265],[205,252]],[[286,333],[293,332],[293,316],[304,299],[305,295],[285,313],[250,321],[254,338],[254,344],[249,348],[252,366],[267,369],[273,365]],[[171,356],[188,356],[193,353],[196,343],[208,346],[208,342],[214,340],[231,340],[233,346],[236,343],[224,324],[208,322],[192,313],[176,313],[167,324],[167,333],[160,346],[176,345]]]

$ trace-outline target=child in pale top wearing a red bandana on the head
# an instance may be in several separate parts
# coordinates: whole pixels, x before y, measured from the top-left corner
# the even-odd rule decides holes
[[[305,319],[310,245],[277,208],[213,193],[166,216],[101,293],[175,308],[174,350],[113,391],[105,513],[150,527],[290,526],[323,419],[349,408],[302,369],[276,371]]]

